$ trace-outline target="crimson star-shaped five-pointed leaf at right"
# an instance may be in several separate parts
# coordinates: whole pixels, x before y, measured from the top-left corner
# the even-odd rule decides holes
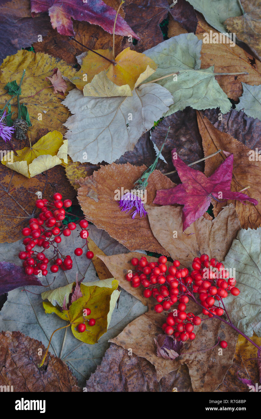
[[[233,154],[223,152],[228,157],[207,178],[204,173],[187,166],[177,156],[175,148],[171,153],[173,164],[177,169],[182,184],[174,188],[157,191],[153,203],[160,205],[184,205],[182,211],[183,231],[207,211],[210,205],[210,198],[214,198],[219,202],[222,202],[222,199],[236,199],[240,202],[249,201],[254,205],[258,204],[256,199],[249,198],[248,195],[241,192],[232,192],[230,190]]]

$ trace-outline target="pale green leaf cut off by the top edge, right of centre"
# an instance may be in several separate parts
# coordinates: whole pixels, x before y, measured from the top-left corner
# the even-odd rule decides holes
[[[188,0],[198,10],[207,23],[219,32],[226,32],[224,22],[227,18],[240,16],[241,8],[237,0],[215,0],[215,7],[209,0]]]

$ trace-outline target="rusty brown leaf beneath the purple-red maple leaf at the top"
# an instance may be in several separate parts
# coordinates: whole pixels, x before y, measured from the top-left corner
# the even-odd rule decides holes
[[[118,0],[105,0],[104,3],[117,10],[120,2]],[[119,14],[124,18],[122,8],[120,9]],[[73,27],[75,32],[74,38],[81,42],[81,44],[92,49],[107,49],[113,47],[113,35],[105,32],[100,26],[73,20]],[[115,35],[116,55],[121,51],[122,39],[123,36]],[[36,52],[46,52],[54,57],[62,58],[71,65],[77,64],[77,55],[87,51],[86,48],[77,44],[75,41],[70,40],[68,36],[60,35],[56,29],[51,28],[51,25],[47,36],[44,36],[42,42],[35,42],[33,48]]]

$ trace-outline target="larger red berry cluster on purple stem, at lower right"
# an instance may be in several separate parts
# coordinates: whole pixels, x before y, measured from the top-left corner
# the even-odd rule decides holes
[[[152,296],[156,299],[158,303],[154,307],[156,313],[168,311],[178,302],[177,310],[168,313],[166,323],[162,328],[166,334],[173,334],[177,340],[193,340],[195,338],[194,326],[200,325],[201,318],[194,316],[193,313],[186,313],[186,304],[189,299],[194,300],[194,295],[198,294],[204,315],[222,316],[224,313],[223,308],[220,307],[222,298],[227,297],[228,291],[233,295],[238,295],[240,291],[235,287],[235,279],[228,278],[229,273],[224,269],[224,265],[216,259],[209,260],[206,254],[201,255],[200,258],[194,258],[192,263],[194,270],[190,274],[187,268],[178,269],[180,265],[178,260],[174,260],[169,268],[166,266],[166,261],[166,256],[160,256],[158,262],[150,263],[145,256],[142,256],[140,260],[133,258],[131,263],[135,266],[136,272],[134,274],[129,272],[125,275],[125,279],[131,282],[132,287],[143,285],[144,297]],[[215,272],[212,270],[214,267]],[[228,278],[228,281],[224,278]],[[214,306],[216,300],[219,307]],[[221,346],[225,348],[227,344],[225,341],[222,342],[223,346]]]

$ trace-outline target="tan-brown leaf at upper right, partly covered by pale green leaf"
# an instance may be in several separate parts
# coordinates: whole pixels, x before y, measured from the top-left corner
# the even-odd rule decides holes
[[[196,35],[198,39],[203,40],[203,34],[214,28],[209,26],[201,17],[197,15],[199,20]],[[238,29],[236,31],[238,36]],[[253,63],[254,62],[254,63]],[[250,54],[244,51],[238,45],[231,47],[230,44],[204,44],[201,48],[201,67],[208,68],[215,65],[214,71],[217,73],[234,73],[247,72],[241,75],[224,75],[216,76],[223,91],[229,98],[237,101],[243,93],[241,82],[250,85],[261,84],[261,63],[256,61]]]

